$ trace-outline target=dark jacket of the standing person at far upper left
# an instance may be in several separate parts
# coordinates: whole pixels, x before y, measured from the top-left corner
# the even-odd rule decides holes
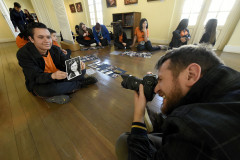
[[[16,9],[13,8],[13,10],[10,12],[10,19],[13,23],[14,28],[16,28],[19,25],[25,25],[27,24],[27,20],[25,17],[25,14],[23,11],[18,12]]]

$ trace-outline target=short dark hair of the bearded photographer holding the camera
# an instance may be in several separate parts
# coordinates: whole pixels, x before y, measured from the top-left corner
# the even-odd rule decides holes
[[[158,70],[168,59],[170,59],[168,69],[172,71],[174,77],[178,77],[179,73],[191,63],[200,65],[201,75],[215,66],[224,64],[210,48],[204,45],[186,45],[170,50],[158,60],[155,68]]]

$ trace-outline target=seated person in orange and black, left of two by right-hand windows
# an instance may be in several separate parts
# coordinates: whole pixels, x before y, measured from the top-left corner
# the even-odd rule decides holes
[[[170,48],[178,48],[187,44],[188,40],[191,38],[187,27],[188,19],[182,19],[177,29],[173,31],[172,41],[169,44]]]

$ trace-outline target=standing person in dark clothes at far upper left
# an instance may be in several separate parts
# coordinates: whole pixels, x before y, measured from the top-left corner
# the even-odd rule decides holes
[[[14,2],[14,8],[10,12],[10,19],[15,28],[15,32],[17,32],[17,28],[20,30],[20,32],[23,32],[24,26],[28,24],[25,14],[21,10],[21,5],[17,2]]]

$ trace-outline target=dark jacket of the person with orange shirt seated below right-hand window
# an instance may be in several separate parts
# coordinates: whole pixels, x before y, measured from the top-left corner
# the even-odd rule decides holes
[[[187,41],[188,41],[188,38],[191,38],[191,36],[190,36],[189,30],[188,30],[188,29],[185,29],[185,30],[188,32],[188,35],[183,36],[183,37],[186,37],[186,39],[187,39]],[[183,42],[180,40],[180,38],[182,38],[181,35],[180,35],[180,33],[181,33],[181,30],[175,30],[175,31],[173,31],[173,37],[172,37],[172,41],[171,41],[170,44],[169,44],[169,47],[171,47],[171,48],[172,48],[172,47],[178,48],[178,47],[180,47],[180,46],[182,46],[182,45],[186,45],[186,44],[187,44],[187,41],[183,43]]]

